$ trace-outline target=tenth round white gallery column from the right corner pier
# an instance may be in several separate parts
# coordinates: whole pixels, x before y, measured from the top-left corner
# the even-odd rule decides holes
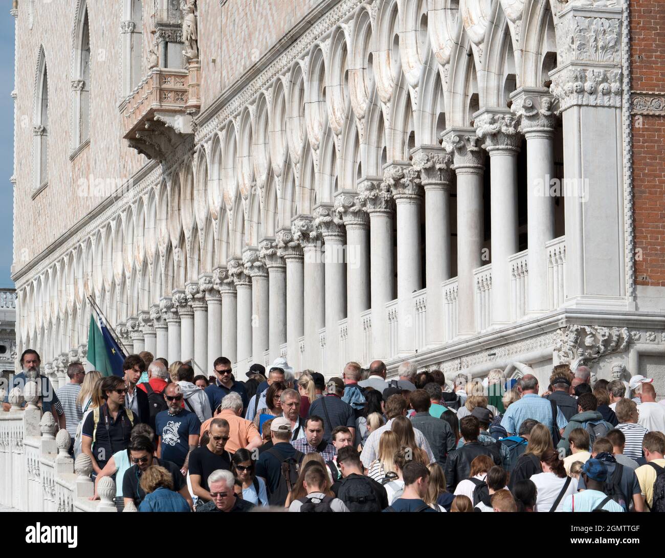
[[[298,340],[305,332],[304,256],[303,248],[293,237],[291,229],[277,231],[277,255],[283,257],[287,265],[287,361],[297,367],[300,354]]]

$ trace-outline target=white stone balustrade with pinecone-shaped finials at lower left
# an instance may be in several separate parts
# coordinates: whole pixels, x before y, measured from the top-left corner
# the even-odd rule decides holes
[[[15,388],[9,394],[12,410],[0,411],[0,504],[33,512],[116,511],[110,477],[98,482],[100,500],[89,499],[94,493],[90,458],[80,454],[74,462],[69,456],[69,433],[55,434],[55,419],[51,413],[41,415],[37,386],[30,384],[25,410],[20,408],[23,393]]]

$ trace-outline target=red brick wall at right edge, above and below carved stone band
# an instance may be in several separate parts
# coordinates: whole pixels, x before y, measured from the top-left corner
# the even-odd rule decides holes
[[[632,91],[665,92],[665,3],[630,2]],[[665,286],[665,117],[632,117],[635,273]]]

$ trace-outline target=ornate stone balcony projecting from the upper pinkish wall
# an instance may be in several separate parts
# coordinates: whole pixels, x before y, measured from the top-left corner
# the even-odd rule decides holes
[[[130,147],[163,161],[189,134],[201,106],[198,69],[155,68],[121,106],[122,132]]]

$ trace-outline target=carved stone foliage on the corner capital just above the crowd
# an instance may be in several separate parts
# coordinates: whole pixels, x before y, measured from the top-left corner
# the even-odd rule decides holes
[[[563,363],[595,360],[606,354],[623,352],[630,343],[627,327],[569,325],[557,330],[555,350]]]

